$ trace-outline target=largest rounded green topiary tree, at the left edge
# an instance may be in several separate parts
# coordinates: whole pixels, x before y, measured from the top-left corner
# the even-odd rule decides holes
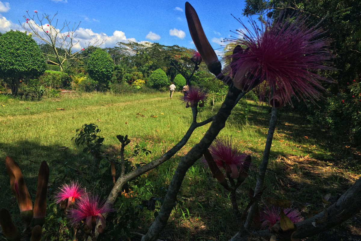
[[[45,71],[45,59],[31,36],[10,30],[0,36],[0,78],[18,94],[20,81],[38,77]]]

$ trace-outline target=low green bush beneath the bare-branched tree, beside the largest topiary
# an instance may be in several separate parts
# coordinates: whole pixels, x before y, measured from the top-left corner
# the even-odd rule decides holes
[[[40,85],[55,89],[66,89],[71,84],[71,78],[68,74],[53,70],[45,70],[45,73],[39,77]]]

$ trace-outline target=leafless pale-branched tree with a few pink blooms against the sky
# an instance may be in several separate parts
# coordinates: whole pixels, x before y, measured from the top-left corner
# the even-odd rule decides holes
[[[38,11],[34,11],[36,14],[30,16],[29,11],[26,11],[27,17],[23,16],[25,23],[21,26],[27,32],[34,35],[40,40],[51,46],[51,52],[44,52],[44,55],[47,57],[47,61],[50,64],[55,64],[60,67],[60,70],[68,69],[73,66],[79,59],[87,58],[88,55],[81,55],[81,51],[86,50],[89,47],[92,47],[90,43],[84,43],[84,47],[81,50],[74,52],[74,46],[78,45],[79,40],[75,41],[77,34],[75,33],[81,22],[74,23],[73,27],[70,26],[70,22],[65,21],[63,26],[57,28],[58,20],[55,20],[54,14],[51,17],[49,14],[42,14],[39,16]],[[38,21],[39,23],[36,23]],[[20,21],[19,21],[20,22]],[[56,22],[55,25],[52,22]],[[21,23],[20,23],[21,24]],[[99,43],[97,40],[95,47],[100,46],[104,43],[104,40]]]

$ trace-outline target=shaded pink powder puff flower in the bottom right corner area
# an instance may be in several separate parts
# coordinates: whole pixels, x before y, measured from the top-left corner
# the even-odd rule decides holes
[[[284,214],[292,221],[292,223],[299,223],[303,220],[301,212],[294,208],[285,208],[283,210]],[[274,205],[267,205],[260,212],[261,227],[262,228],[271,228],[275,225],[281,218],[281,209]]]

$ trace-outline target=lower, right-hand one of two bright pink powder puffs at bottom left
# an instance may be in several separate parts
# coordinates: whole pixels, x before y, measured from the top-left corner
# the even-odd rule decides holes
[[[69,209],[69,218],[72,219],[73,224],[79,223],[83,219],[86,219],[86,225],[90,230],[95,230],[97,220],[101,221],[101,226],[98,227],[98,232],[103,232],[105,228],[105,219],[102,215],[105,212],[111,212],[113,208],[110,208],[106,202],[99,202],[98,196],[89,196],[85,194],[83,198],[77,202],[75,207]]]

